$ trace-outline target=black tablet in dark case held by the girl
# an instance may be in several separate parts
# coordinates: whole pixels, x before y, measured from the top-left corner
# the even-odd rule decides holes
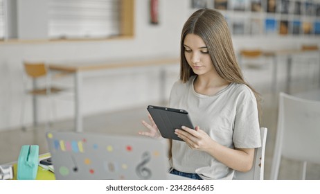
[[[190,129],[195,128],[193,127],[188,112],[184,109],[152,105],[149,105],[147,109],[163,138],[183,141],[175,134],[175,129],[181,129],[182,125],[189,127]]]

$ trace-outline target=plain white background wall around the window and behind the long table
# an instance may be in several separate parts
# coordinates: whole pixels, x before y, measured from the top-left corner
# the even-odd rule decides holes
[[[31,1],[36,2],[36,1]],[[21,1],[18,1],[21,3]],[[30,7],[36,7],[33,5]],[[149,1],[136,0],[134,39],[101,42],[8,42],[0,43],[0,130],[19,127],[23,94],[23,60],[90,60],[103,58],[143,58],[145,56],[179,56],[179,41],[184,21],[193,10],[190,1],[159,1],[159,26],[149,24]],[[24,8],[20,7],[19,8]],[[30,30],[32,31],[32,30]],[[317,42],[318,38],[296,37],[234,37],[236,49],[263,46],[264,48],[297,47],[302,42]],[[178,64],[173,66],[166,82],[168,96],[172,82],[178,78]],[[85,115],[114,111],[126,107],[147,107],[159,100],[159,69],[137,68],[88,73],[83,80],[83,112]],[[103,76],[104,75],[104,76]],[[71,78],[65,82],[72,83]],[[31,123],[31,98],[27,98],[26,121]],[[40,106],[42,105],[40,101]],[[57,101],[57,118],[73,116],[73,102]],[[45,108],[39,108],[44,121]]]

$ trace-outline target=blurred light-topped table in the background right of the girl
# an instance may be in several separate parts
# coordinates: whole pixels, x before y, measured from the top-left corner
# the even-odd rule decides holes
[[[265,55],[266,57],[272,57],[274,59],[274,71],[272,73],[272,87],[274,88],[274,94],[276,94],[278,56],[282,55],[287,58],[287,63],[286,63],[287,79],[286,79],[285,92],[287,92],[287,94],[290,94],[292,56],[301,54],[301,53],[314,53],[319,55],[319,50],[278,49],[278,50],[263,51],[263,55]],[[320,60],[319,60],[319,66],[320,66]],[[320,80],[319,80],[319,85],[320,85]]]

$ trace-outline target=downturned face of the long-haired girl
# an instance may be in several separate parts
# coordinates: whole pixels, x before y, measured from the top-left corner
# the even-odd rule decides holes
[[[208,48],[198,35],[186,35],[184,39],[184,56],[193,72],[198,76],[215,72],[211,57],[208,54]]]

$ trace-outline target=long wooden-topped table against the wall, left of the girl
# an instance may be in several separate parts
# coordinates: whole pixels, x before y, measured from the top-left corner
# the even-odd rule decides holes
[[[74,75],[74,100],[75,100],[75,131],[82,132],[82,73],[85,71],[98,71],[102,69],[121,69],[134,67],[155,67],[169,64],[179,64],[179,58],[175,57],[155,57],[126,59],[126,60],[95,60],[95,61],[69,61],[69,62],[47,62],[51,71],[62,71],[73,73]],[[165,69],[160,71],[160,89],[165,89],[163,80],[165,79]],[[161,92],[162,93],[162,92]],[[160,94],[161,94],[160,93]],[[161,97],[163,99],[163,96]],[[35,103],[35,102],[34,102]]]

